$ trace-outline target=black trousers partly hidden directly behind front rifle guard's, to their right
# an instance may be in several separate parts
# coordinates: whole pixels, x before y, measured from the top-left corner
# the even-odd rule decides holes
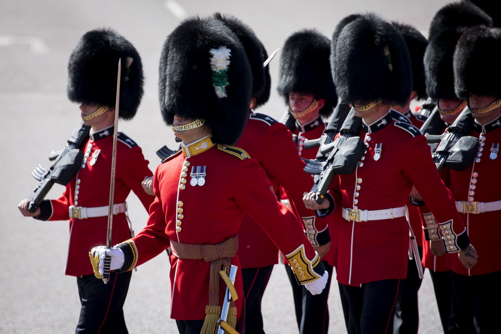
[[[423,248],[418,247],[419,259],[423,256]],[[422,279],[414,259],[407,261],[407,277],[400,281],[395,317],[393,319],[394,334],[417,334],[419,327],[418,291]]]

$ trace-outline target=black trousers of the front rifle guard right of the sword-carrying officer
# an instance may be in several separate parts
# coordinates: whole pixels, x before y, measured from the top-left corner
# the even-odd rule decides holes
[[[343,285],[355,332],[391,333],[398,295],[398,279],[362,284],[362,287]],[[345,316],[346,318],[346,316]]]

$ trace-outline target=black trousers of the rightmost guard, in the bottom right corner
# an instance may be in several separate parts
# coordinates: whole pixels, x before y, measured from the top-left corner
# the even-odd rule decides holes
[[[451,272],[449,333],[499,332],[501,271],[464,276]]]

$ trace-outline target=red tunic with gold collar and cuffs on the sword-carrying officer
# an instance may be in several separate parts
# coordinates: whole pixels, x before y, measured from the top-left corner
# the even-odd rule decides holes
[[[156,198],[150,207],[147,226],[132,239],[137,250],[136,265],[168,248],[171,239],[187,244],[210,245],[230,239],[237,233],[246,213],[260,224],[284,254],[303,245],[307,261],[318,258],[303,231],[298,228],[297,218],[276,201],[271,185],[256,160],[244,158],[247,156],[245,151],[233,146],[213,146],[210,137],[189,146],[194,147],[199,149],[185,149],[187,156],[178,152],[155,171],[153,191]],[[187,168],[183,172],[185,166]],[[192,186],[195,178],[191,174],[199,166],[201,170],[205,168],[205,184],[200,186],[195,183]],[[181,259],[172,254],[170,262],[171,317],[180,320],[204,319],[209,302],[210,263]],[[238,253],[231,262],[240,266]],[[241,296],[241,271],[237,271],[235,288]],[[225,287],[220,285],[221,303],[224,291]],[[242,300],[235,301],[238,315]]]

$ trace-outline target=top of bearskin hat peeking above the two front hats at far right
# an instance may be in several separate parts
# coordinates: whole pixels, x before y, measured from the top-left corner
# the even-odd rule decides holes
[[[447,4],[431,20],[428,41],[445,29],[476,25],[492,26],[492,18],[469,1]]]

